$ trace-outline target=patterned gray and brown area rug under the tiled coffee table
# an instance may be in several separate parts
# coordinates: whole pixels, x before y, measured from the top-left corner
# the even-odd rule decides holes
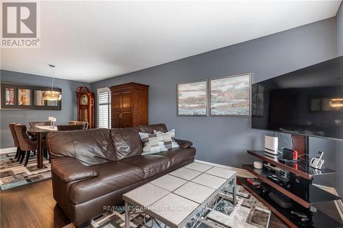
[[[207,216],[201,224],[194,225],[196,218],[187,224],[187,227],[199,228],[266,228],[270,220],[270,210],[260,201],[253,197],[243,187],[237,186],[237,205],[234,207],[232,194],[224,197],[220,205],[214,210],[208,210],[204,216]],[[149,218],[145,219],[143,214],[139,214],[130,219],[132,228],[152,227],[160,228],[156,223],[152,223]],[[161,225],[161,224],[160,224]],[[73,228],[71,223],[63,228]],[[123,208],[106,212],[92,220],[91,225],[86,228],[125,228],[125,213]],[[165,227],[163,224],[161,227]]]

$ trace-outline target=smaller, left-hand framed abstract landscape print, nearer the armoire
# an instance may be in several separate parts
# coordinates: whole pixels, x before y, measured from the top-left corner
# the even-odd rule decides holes
[[[206,116],[206,84],[207,81],[178,84],[178,115]]]

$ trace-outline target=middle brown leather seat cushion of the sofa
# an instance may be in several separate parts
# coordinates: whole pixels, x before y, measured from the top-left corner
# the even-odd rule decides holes
[[[134,166],[138,166],[143,169],[144,178],[147,179],[149,177],[153,177],[154,175],[158,175],[163,171],[167,170],[170,165],[171,161],[168,157],[160,156],[160,155],[137,155],[134,157],[129,157],[126,159],[121,160],[125,164],[131,164]]]

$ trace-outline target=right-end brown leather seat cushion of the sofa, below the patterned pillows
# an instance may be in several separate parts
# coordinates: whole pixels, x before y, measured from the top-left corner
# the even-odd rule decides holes
[[[196,149],[194,147],[172,148],[168,149],[168,151],[155,153],[154,155],[162,155],[165,157],[169,157],[172,167],[177,166],[178,164],[181,164],[182,162],[185,162],[187,160],[194,159],[194,156],[196,155]]]

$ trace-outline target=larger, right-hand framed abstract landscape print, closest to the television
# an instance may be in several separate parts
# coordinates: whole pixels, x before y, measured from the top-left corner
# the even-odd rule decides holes
[[[249,116],[250,75],[211,80],[211,115]]]

